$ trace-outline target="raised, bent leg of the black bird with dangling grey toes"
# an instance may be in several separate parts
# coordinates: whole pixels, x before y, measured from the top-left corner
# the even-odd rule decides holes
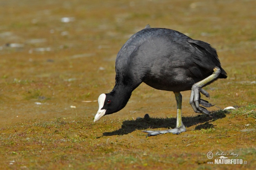
[[[199,106],[199,104],[207,108],[213,105],[207,102],[206,100],[200,99],[200,92],[201,94],[204,94],[204,96],[209,97],[209,94],[207,93],[207,91],[203,90],[202,87],[206,85],[208,82],[211,82],[212,80],[216,79],[220,75],[220,73],[221,73],[221,69],[218,67],[215,67],[213,69],[212,75],[192,85],[189,103],[196,113],[205,113],[209,115],[209,111],[207,111],[206,108]]]

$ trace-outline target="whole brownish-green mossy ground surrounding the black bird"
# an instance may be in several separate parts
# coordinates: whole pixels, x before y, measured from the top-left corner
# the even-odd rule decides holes
[[[0,169],[255,169],[255,6],[0,0]],[[175,127],[172,92],[142,84],[96,123],[97,102],[83,102],[112,90],[116,54],[147,24],[210,43],[228,74],[204,88],[212,117],[194,113],[190,91],[181,93],[187,131],[179,135],[142,132]],[[220,156],[243,164],[215,164]]]

